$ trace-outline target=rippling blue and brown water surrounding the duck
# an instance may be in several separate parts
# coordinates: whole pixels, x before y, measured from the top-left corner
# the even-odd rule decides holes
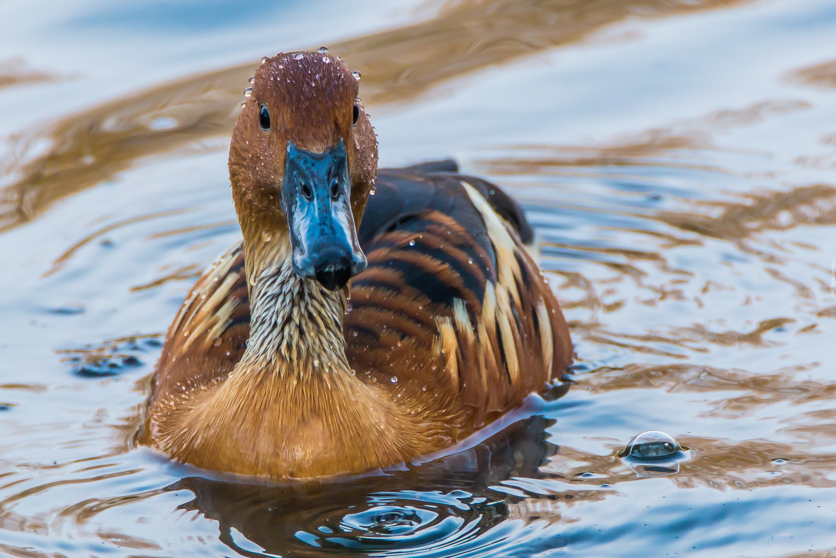
[[[832,2],[7,0],[0,28],[0,552],[831,555]],[[252,69],[320,44],[381,164],[523,202],[579,359],[456,452],[207,478],[135,447],[149,374],[238,238]],[[648,430],[681,455],[619,457]]]

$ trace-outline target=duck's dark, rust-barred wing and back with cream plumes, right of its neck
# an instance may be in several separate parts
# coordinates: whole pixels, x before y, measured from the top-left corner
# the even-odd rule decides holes
[[[523,208],[452,161],[381,169],[359,228],[346,355],[475,411],[474,425],[563,376],[568,328],[523,241]]]

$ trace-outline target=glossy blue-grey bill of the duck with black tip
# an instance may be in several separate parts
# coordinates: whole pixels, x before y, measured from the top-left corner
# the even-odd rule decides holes
[[[288,141],[282,209],[288,219],[293,272],[339,290],[366,268],[351,212],[349,158],[342,140],[322,153]]]

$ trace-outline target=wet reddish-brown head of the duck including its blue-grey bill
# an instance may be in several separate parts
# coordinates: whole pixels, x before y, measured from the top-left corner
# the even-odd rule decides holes
[[[357,225],[377,141],[358,91],[327,53],[278,54],[257,69],[229,151],[249,276],[258,268],[251,259],[288,247],[293,272],[329,290],[365,269]]]

